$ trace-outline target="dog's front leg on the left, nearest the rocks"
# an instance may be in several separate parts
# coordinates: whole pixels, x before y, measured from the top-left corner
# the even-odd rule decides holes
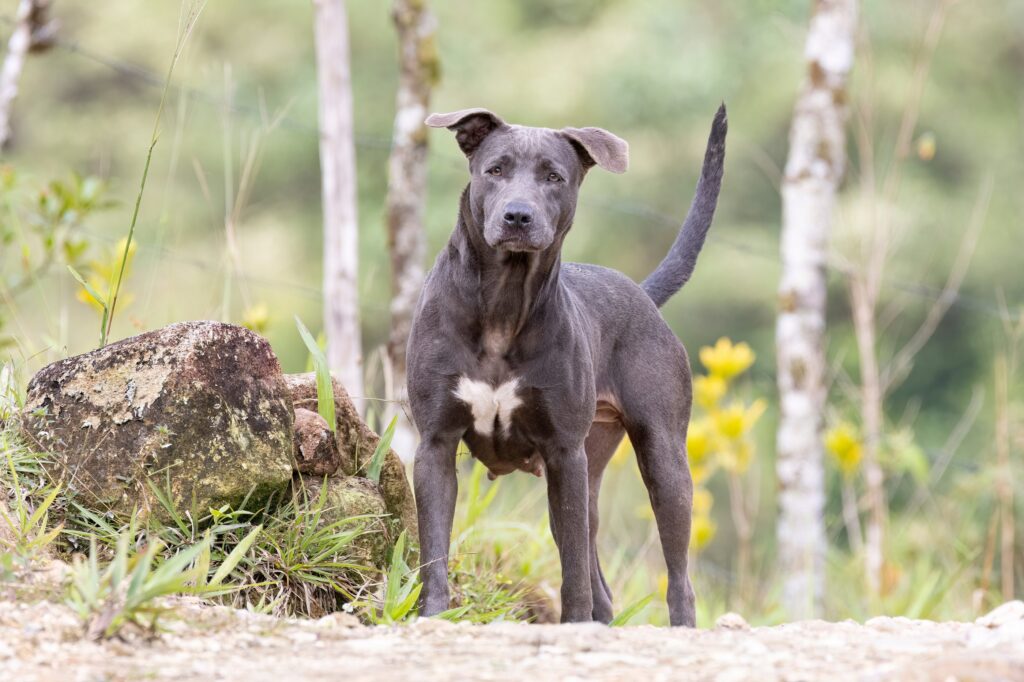
[[[459,438],[424,434],[416,451],[413,481],[420,524],[420,615],[437,615],[449,607],[447,554],[459,493],[456,450]]]

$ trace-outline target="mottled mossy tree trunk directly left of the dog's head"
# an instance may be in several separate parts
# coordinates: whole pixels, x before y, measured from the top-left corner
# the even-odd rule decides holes
[[[416,429],[404,406],[406,345],[413,326],[413,310],[423,286],[426,236],[423,212],[427,193],[427,118],[430,92],[439,69],[434,34],[437,23],[425,0],[395,0],[393,9],[398,33],[398,92],[394,133],[388,161],[387,233],[391,256],[391,334],[388,358],[395,402],[388,403],[386,417],[398,417],[394,449],[403,458],[416,447]]]

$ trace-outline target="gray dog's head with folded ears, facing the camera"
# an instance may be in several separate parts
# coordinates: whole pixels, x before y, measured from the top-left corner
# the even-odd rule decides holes
[[[492,249],[544,251],[572,224],[580,185],[600,166],[622,173],[625,140],[600,128],[529,128],[509,125],[485,109],[432,114],[469,159],[473,221]]]

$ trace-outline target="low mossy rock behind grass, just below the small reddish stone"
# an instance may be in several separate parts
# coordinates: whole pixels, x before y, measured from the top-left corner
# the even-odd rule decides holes
[[[324,509],[319,525],[328,526],[344,519],[361,517],[353,523],[362,531],[352,542],[357,559],[369,566],[384,568],[387,553],[401,532],[400,521],[388,513],[381,488],[369,478],[349,476],[345,478],[317,478],[302,476],[297,485],[306,499],[306,504],[317,504],[327,484]]]

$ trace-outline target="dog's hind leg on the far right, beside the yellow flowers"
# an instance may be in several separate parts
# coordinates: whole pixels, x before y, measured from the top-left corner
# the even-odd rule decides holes
[[[693,586],[686,572],[686,554],[690,544],[693,480],[686,466],[686,434],[678,423],[630,425],[629,434],[650,497],[669,570],[669,622],[692,628],[696,625],[696,613]]]

